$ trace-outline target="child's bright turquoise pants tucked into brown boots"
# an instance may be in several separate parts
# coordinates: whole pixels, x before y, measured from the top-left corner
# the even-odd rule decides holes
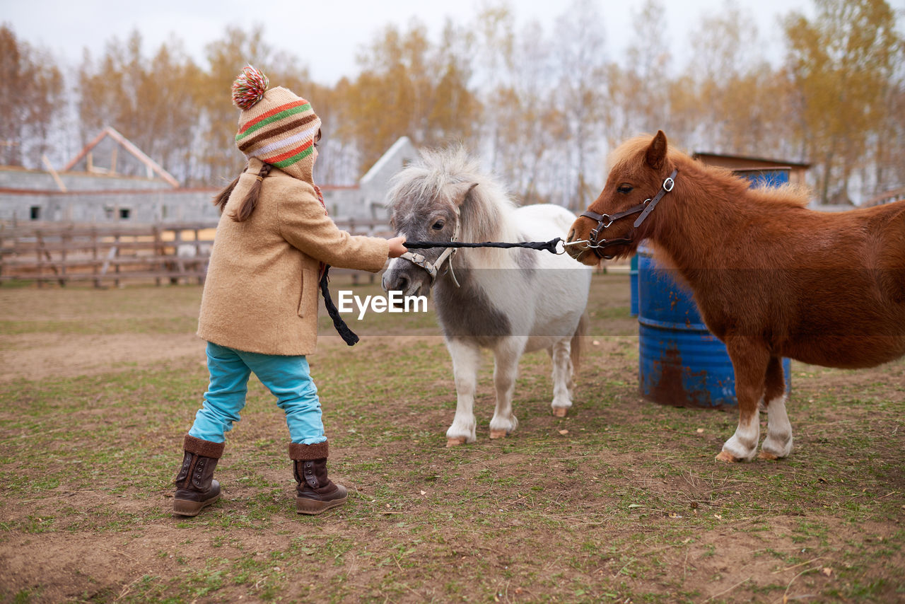
[[[293,443],[314,445],[327,440],[320,420],[318,388],[311,380],[305,357],[244,352],[207,342],[207,369],[211,383],[204,405],[195,414],[195,424],[188,431],[190,436],[224,442],[224,433],[241,419],[239,412],[245,407],[248,378],[254,371],[277,398],[277,407],[286,413]]]

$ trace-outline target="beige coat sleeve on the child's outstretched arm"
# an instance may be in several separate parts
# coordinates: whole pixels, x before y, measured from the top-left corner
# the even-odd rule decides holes
[[[338,268],[376,273],[386,264],[389,244],[382,237],[349,235],[327,216],[311,187],[291,187],[279,199],[280,234],[293,247]]]

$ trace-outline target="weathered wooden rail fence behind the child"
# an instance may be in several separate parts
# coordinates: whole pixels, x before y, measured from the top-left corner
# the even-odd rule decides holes
[[[353,235],[389,235],[376,220],[338,221]],[[0,225],[0,283],[204,283],[216,224]],[[357,282],[357,271],[352,273]],[[371,282],[374,275],[367,273]]]

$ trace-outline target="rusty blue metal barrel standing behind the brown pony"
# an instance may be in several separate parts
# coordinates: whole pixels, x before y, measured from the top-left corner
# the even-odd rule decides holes
[[[738,170],[752,187],[788,182],[787,169]],[[666,200],[664,200],[666,201]],[[641,396],[661,405],[734,407],[735,373],[726,346],[700,317],[691,292],[638,247],[638,346]],[[783,360],[786,388],[791,362]]]

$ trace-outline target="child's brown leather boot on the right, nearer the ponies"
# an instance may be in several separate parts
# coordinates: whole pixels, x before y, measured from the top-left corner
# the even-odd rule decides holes
[[[327,477],[327,441],[317,445],[291,443],[289,456],[294,466],[295,511],[321,513],[346,503],[346,487]]]

